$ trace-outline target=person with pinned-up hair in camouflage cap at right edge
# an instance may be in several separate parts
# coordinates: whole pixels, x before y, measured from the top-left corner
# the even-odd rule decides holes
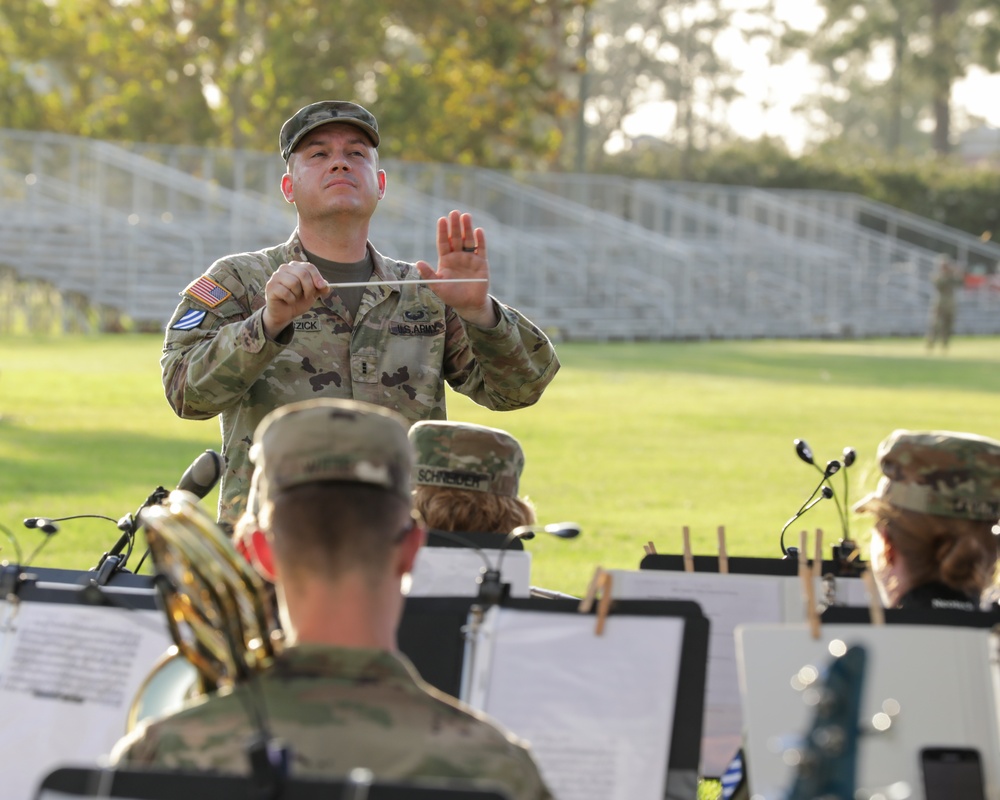
[[[976,611],[993,584],[1000,442],[897,430],[878,449],[882,478],[854,510],[874,517],[871,565],[888,608]]]

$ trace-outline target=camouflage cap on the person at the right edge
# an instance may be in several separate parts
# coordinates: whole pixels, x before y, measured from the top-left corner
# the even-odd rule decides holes
[[[1000,442],[971,433],[894,431],[878,448],[883,476],[854,506],[874,500],[959,519],[1000,519]]]

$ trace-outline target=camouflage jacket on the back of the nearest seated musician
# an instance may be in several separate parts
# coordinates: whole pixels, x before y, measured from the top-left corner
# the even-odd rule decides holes
[[[248,773],[247,707],[257,703],[271,734],[289,745],[293,777],[344,777],[365,767],[376,780],[477,779],[512,800],[552,797],[521,741],[424,683],[404,657],[298,645],[258,687],[140,726],[115,747],[112,763]]]

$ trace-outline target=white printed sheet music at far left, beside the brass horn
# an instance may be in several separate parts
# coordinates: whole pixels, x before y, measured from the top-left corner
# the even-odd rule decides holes
[[[107,755],[170,644],[159,611],[0,603],[3,796],[28,800],[55,767]]]

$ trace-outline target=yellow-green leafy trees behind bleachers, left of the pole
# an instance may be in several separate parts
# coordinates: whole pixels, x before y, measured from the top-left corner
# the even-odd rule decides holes
[[[296,109],[350,98],[379,117],[386,155],[545,162],[572,114],[565,42],[588,2],[5,0],[0,118],[271,150]]]

